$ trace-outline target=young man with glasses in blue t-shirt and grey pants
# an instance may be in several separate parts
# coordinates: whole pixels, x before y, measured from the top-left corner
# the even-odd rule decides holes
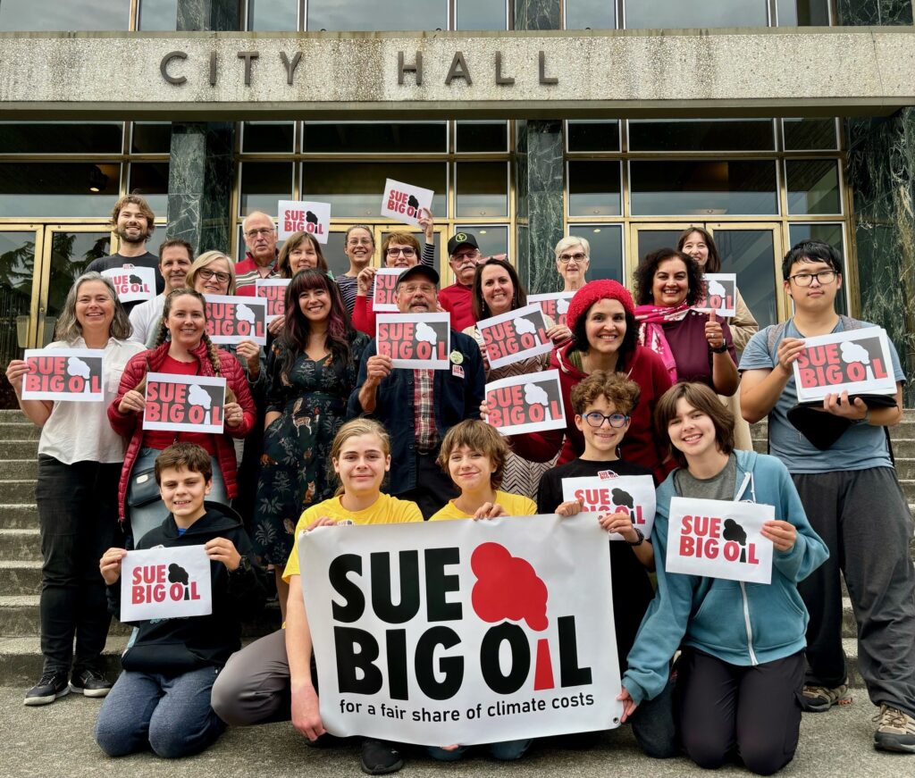
[[[915,753],[915,570],[909,558],[912,517],[893,469],[888,426],[902,418],[902,382],[896,348],[889,344],[896,403],[868,409],[847,392],[823,400],[823,426],[848,425],[822,449],[791,424],[797,403],[793,363],[804,337],[874,325],[836,314],[842,263],[819,240],[798,243],[781,265],[794,316],[752,337],[740,360],[740,405],[754,423],[769,417],[771,453],[787,465],[829,560],[799,586],[810,612],[802,708],[824,711],[850,699],[842,650],[841,570],[855,610],[858,666],[880,712],[875,747]],[[850,423],[849,423],[850,422]],[[821,442],[823,445],[823,442]]]

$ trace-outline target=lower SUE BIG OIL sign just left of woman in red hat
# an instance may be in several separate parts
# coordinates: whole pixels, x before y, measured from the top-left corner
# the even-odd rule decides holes
[[[565,427],[559,371],[500,378],[486,385],[486,421],[503,435]]]

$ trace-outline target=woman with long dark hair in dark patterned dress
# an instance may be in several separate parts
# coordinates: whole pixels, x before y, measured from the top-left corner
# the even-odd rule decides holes
[[[369,337],[350,325],[337,284],[318,270],[286,287],[282,333],[267,359],[264,455],[254,504],[254,544],[273,566],[285,613],[283,566],[296,522],[333,495],[330,444],[346,416]]]

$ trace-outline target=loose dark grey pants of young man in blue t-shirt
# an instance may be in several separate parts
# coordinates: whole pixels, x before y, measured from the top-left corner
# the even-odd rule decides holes
[[[798,585],[810,612],[806,683],[837,687],[845,681],[841,570],[871,701],[915,716],[912,517],[896,472],[874,467],[791,477],[807,518],[829,549],[829,559]]]

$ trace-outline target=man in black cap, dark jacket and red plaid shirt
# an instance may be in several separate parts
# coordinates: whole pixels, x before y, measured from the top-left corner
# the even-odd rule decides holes
[[[436,313],[437,284],[438,273],[428,265],[401,273],[394,292],[400,313]],[[387,491],[413,500],[428,518],[458,496],[436,456],[451,427],[479,419],[485,383],[479,346],[456,330],[453,317],[447,369],[393,368],[391,357],[379,354],[377,346],[372,340],[362,353],[349,415],[364,414],[382,422],[391,435]]]

